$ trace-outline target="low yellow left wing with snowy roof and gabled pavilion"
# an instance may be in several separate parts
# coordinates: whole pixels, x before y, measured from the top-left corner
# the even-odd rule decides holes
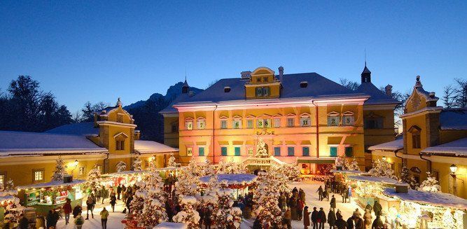
[[[139,140],[137,125],[130,113],[116,106],[97,111],[92,123],[74,123],[46,132],[0,131],[0,187],[8,180],[15,186],[50,181],[57,158],[67,165],[67,173],[85,179],[95,166],[102,173],[116,172],[119,162],[132,169],[139,156],[142,167],[156,160],[166,167],[178,149],[155,141]]]

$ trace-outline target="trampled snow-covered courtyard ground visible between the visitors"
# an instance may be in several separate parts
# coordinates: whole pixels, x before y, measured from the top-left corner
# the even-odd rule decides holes
[[[323,185],[322,183],[309,183],[309,182],[298,182],[298,183],[291,183],[289,186],[291,189],[293,187],[297,188],[302,188],[305,190],[306,193],[306,205],[309,207],[310,211],[313,210],[313,207],[323,207],[324,211],[326,212],[326,216],[329,211],[329,202],[325,199],[324,201],[319,201],[318,200],[318,194],[316,193],[316,190],[318,190],[319,186]],[[363,209],[358,207],[358,205],[355,202],[351,203],[342,203],[342,197],[338,194],[335,194],[335,199],[337,202],[337,209],[340,209],[342,211],[342,215],[344,216],[344,220],[347,221],[347,218],[349,218],[352,214],[352,212],[355,211],[356,208],[360,209],[360,211],[363,213]],[[121,200],[117,200],[117,205],[115,212],[111,211],[111,206],[109,204],[109,199],[106,199],[105,204],[97,204],[97,206],[94,209],[94,218],[89,218],[89,220],[85,221],[83,228],[102,228],[101,226],[101,217],[99,215],[99,212],[102,211],[102,207],[106,207],[107,210],[109,210],[110,215],[109,215],[109,220],[107,221],[107,228],[109,229],[118,229],[118,228],[124,228],[123,224],[121,221],[123,218],[125,218],[125,214],[122,213],[124,205]],[[83,217],[86,217],[86,212],[85,212],[85,207],[83,207]],[[60,219],[57,223],[57,228],[75,228],[74,223],[73,223],[73,216],[70,218],[70,224],[65,225],[65,220],[64,218]],[[247,229],[251,228],[253,225],[253,218],[250,219],[249,221],[244,221],[241,225],[242,229]],[[303,228],[303,222],[302,221],[292,221],[292,227],[293,228]],[[203,227],[204,228],[204,227]],[[325,228],[329,228],[329,226],[326,224]]]

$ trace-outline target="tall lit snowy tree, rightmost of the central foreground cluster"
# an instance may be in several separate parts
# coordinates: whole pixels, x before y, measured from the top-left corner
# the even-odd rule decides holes
[[[281,209],[279,208],[279,188],[277,187],[279,173],[270,169],[269,172],[258,173],[258,188],[254,190],[254,213],[263,221],[281,225]]]

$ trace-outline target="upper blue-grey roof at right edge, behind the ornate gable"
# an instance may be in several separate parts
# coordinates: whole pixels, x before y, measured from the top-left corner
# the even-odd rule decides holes
[[[441,130],[467,130],[467,108],[442,109]]]

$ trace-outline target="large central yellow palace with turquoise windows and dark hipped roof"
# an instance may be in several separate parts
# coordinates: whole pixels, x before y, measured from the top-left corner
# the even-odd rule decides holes
[[[357,90],[314,72],[258,67],[197,95],[185,81],[182,94],[160,113],[165,144],[179,148],[182,164],[192,157],[247,162],[262,139],[274,160],[323,174],[337,155],[356,158],[361,169],[371,166],[365,150],[393,139],[397,104],[390,85],[384,93],[371,83],[366,64]]]

